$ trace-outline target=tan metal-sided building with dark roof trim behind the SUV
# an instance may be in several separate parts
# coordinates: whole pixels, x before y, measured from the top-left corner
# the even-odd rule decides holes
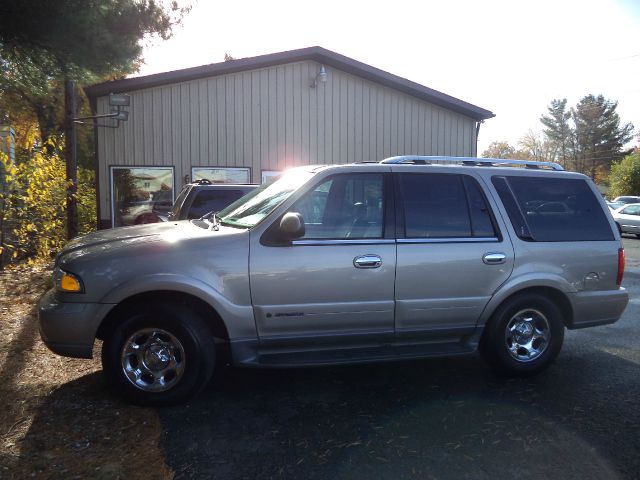
[[[134,204],[153,201],[140,185],[122,194],[122,174],[171,169],[173,183],[162,188],[175,198],[198,177],[259,183],[305,164],[476,156],[479,123],[493,117],[320,47],[107,82],[86,93],[96,115],[110,113],[110,93],[130,95],[127,121],[96,128],[103,227],[120,224],[115,203],[126,195]]]

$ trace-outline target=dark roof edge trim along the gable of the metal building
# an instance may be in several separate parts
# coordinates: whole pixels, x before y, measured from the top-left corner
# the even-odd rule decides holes
[[[144,88],[157,87],[171,83],[186,82],[199,78],[214,77],[228,73],[255,70],[258,68],[271,67],[286,63],[312,60],[322,63],[328,67],[337,68],[344,72],[366,78],[372,82],[394,88],[401,92],[412,95],[421,100],[439,105],[455,112],[467,115],[477,121],[494,117],[489,110],[477,107],[460,99],[452,97],[432,88],[425,87],[397,75],[385,72],[365,63],[358,62],[352,58],[345,57],[339,53],[332,52],[322,47],[309,47],[288,52],[271,53],[258,57],[241,58],[222,63],[212,63],[200,67],[185,68],[172,72],[157,73],[144,77],[127,78],[124,80],[114,80],[111,82],[98,83],[86,87],[84,90],[88,97],[96,98],[109,93],[124,93]]]

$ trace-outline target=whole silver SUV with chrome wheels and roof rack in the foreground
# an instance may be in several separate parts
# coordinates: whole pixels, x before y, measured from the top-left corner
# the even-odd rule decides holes
[[[40,330],[129,400],[182,402],[216,352],[247,367],[470,354],[527,375],[564,329],[613,323],[620,235],[552,163],[394,157],[285,173],[208,218],[99,231],[60,253]],[[221,348],[227,345],[229,348]]]

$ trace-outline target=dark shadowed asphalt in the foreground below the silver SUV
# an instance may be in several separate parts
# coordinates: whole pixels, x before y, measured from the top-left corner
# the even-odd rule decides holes
[[[526,380],[478,357],[227,369],[160,411],[162,445],[176,478],[635,478],[637,373],[595,349]]]

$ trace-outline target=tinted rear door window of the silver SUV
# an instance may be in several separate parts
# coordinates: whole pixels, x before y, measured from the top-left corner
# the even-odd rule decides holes
[[[495,237],[476,181],[463,175],[401,174],[407,238]]]

